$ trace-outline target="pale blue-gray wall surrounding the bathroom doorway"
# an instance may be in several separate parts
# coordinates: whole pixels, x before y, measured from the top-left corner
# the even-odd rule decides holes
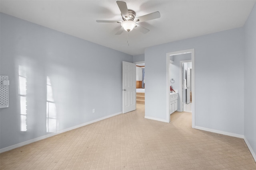
[[[195,125],[243,135],[243,27],[146,48],[145,116],[166,120],[166,53],[186,49],[195,49]]]

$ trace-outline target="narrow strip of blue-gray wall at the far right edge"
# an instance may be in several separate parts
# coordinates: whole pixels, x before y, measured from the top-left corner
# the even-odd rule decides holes
[[[256,5],[244,25],[244,137],[256,160]]]

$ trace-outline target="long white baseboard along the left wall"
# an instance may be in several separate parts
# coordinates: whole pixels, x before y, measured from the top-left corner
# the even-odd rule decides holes
[[[118,112],[118,113],[115,113],[115,114],[112,114],[112,115],[108,115],[108,116],[105,116],[105,117],[101,117],[99,119],[96,119],[96,120],[93,120],[93,121],[89,121],[89,122],[86,122],[86,123],[82,123],[80,125],[76,125],[76,126],[73,126],[73,127],[70,127],[70,128],[67,128],[67,129],[63,129],[63,130],[60,130],[60,131],[57,131],[57,132],[54,132],[54,133],[50,133],[50,134],[47,134],[47,135],[44,135],[44,136],[41,136],[41,137],[37,137],[37,138],[34,138],[34,139],[31,139],[31,140],[28,140],[28,141],[25,141],[25,142],[22,142],[22,143],[18,143],[18,144],[15,144],[15,145],[12,145],[12,146],[9,146],[9,147],[5,147],[5,148],[2,148],[0,149],[0,153],[2,152],[6,152],[8,150],[12,150],[12,149],[15,149],[15,148],[18,148],[18,147],[22,147],[24,145],[28,145],[30,143],[33,143],[33,142],[36,142],[36,141],[40,141],[42,139],[46,139],[48,137],[52,137],[52,136],[55,136],[55,135],[58,135],[60,133],[64,133],[66,131],[70,131],[70,130],[73,130],[73,129],[76,129],[78,127],[82,127],[82,126],[85,126],[85,125],[89,125],[89,124],[92,124],[92,123],[95,123],[97,121],[101,121],[101,120],[104,120],[104,119],[107,119],[109,117],[113,117],[115,115],[119,115],[121,114],[121,112]]]

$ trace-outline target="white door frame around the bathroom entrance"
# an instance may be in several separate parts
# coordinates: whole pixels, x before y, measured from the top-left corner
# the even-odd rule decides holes
[[[182,51],[174,51],[166,53],[166,121],[170,122],[169,103],[170,103],[170,86],[169,86],[169,66],[170,56],[191,53],[192,60],[192,128],[195,128],[195,49],[187,49]]]

